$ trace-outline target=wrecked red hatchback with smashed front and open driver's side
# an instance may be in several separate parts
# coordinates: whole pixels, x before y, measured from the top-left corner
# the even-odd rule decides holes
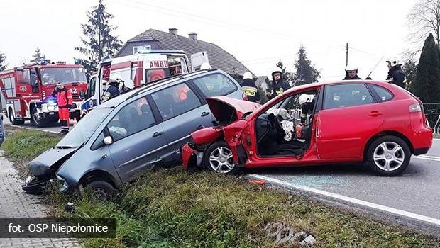
[[[396,176],[411,155],[427,153],[432,130],[422,102],[386,81],[339,81],[297,86],[259,106],[207,98],[213,128],[192,133],[184,167],[232,174],[240,167],[368,162]]]

